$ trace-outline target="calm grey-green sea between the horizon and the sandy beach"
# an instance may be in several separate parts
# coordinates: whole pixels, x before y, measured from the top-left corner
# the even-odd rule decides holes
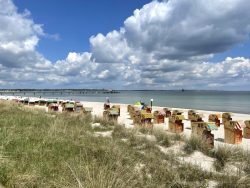
[[[18,93],[15,95],[22,95]],[[109,97],[110,102],[132,104],[136,101],[143,101],[153,105],[194,108],[201,110],[228,111],[250,114],[250,92],[249,91],[119,91],[119,93],[96,93],[96,92],[63,92],[63,93],[42,93],[30,92],[25,96],[72,99],[79,101],[105,102]]]

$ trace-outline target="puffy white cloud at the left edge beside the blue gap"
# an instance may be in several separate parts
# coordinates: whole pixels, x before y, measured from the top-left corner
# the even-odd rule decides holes
[[[29,18],[26,10],[18,13],[9,0],[0,0],[0,64],[5,67],[22,67],[40,61],[35,51],[39,36],[44,35],[42,26]]]

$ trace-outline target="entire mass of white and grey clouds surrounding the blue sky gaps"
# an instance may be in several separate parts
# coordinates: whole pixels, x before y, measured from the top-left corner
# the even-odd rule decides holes
[[[119,30],[91,36],[90,52],[69,52],[52,63],[36,50],[48,37],[42,25],[29,11],[18,13],[11,0],[0,0],[6,7],[0,10],[0,85],[249,88],[249,59],[210,61],[249,40],[249,6],[248,0],[153,1]]]

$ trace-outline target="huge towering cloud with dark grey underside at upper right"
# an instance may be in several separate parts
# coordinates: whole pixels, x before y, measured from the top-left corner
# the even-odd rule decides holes
[[[157,60],[210,58],[248,39],[249,6],[247,0],[153,1],[135,10],[120,31],[92,37],[93,55],[100,62],[103,51],[112,54],[112,61],[135,51]]]

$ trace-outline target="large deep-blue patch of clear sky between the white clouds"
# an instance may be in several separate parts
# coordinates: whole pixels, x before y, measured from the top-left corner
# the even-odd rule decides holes
[[[89,38],[119,29],[123,21],[150,0],[14,0],[20,12],[28,9],[35,23],[58,35],[42,38],[38,51],[51,61],[64,59],[70,51],[89,51]]]

